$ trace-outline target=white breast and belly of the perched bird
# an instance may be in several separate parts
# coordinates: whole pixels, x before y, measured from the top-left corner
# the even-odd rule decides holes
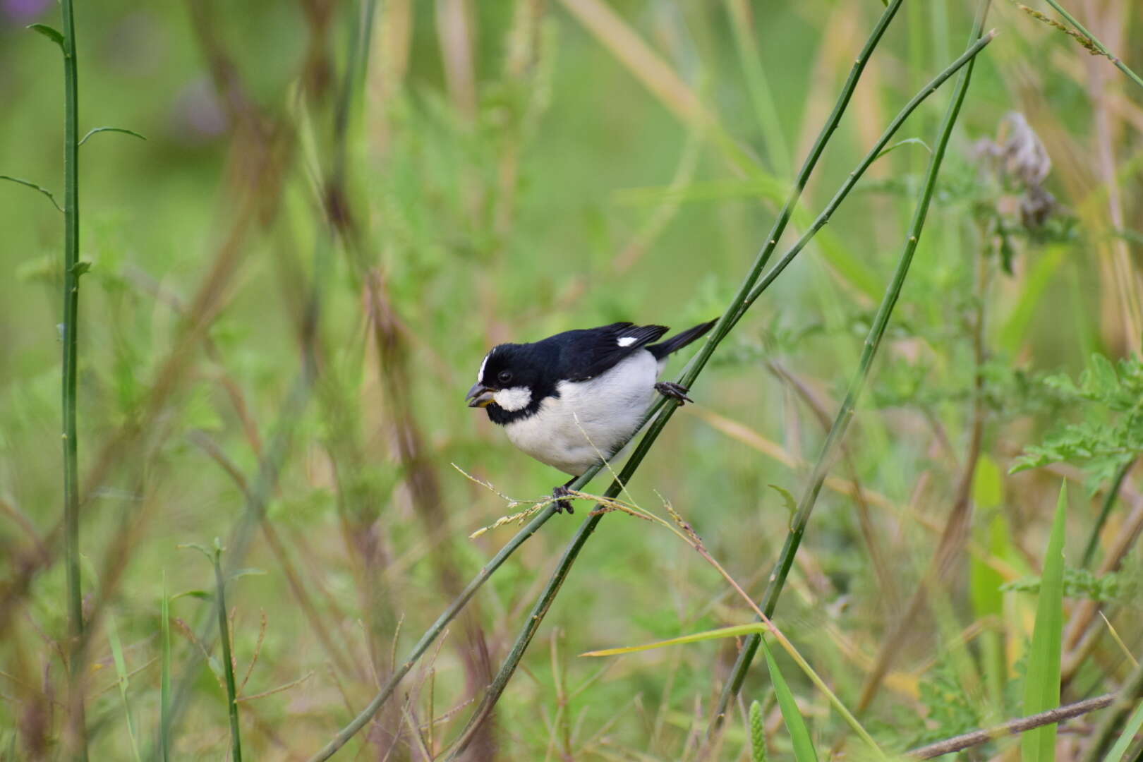
[[[650,407],[661,366],[647,350],[585,382],[560,382],[559,396],[507,424],[507,438],[542,463],[578,476],[615,455]]]

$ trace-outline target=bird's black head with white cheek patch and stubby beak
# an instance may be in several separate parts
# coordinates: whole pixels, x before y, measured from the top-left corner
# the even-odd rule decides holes
[[[477,383],[465,398],[483,408],[493,423],[506,424],[536,412],[545,396],[557,395],[553,366],[536,344],[501,344],[485,355]]]

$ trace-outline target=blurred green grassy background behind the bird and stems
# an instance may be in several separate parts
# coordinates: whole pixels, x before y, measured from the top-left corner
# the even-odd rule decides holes
[[[1137,3],[1076,5],[1143,67]],[[249,756],[306,759],[345,724],[391,655],[511,537],[505,527],[467,538],[512,510],[450,464],[522,499],[565,479],[464,407],[485,352],[617,320],[681,329],[718,315],[880,11],[872,0],[79,3],[81,133],[146,137],[98,134],[80,157],[93,759],[153,747],[160,600],[213,586],[209,564],[179,545],[215,537],[225,562],[261,572],[227,589],[240,676],[256,658],[241,693],[286,687],[240,703]],[[784,241],[959,55],[972,13],[958,0],[905,3]],[[48,0],[0,1],[0,174],[62,200],[58,51],[24,29],[57,17]],[[972,504],[943,584],[920,588],[864,712],[889,749],[1020,713],[1012,685],[1036,596],[997,585],[1039,575],[1061,478],[1077,482],[1066,556],[1079,568],[1112,474],[1143,449],[1137,412],[1045,383],[1078,378],[1092,354],[1140,348],[1143,90],[1013,3],[997,3],[988,25],[1000,34],[980,57],[777,617],[852,706],[950,516]],[[917,139],[873,165],[728,337],[693,388],[697,404],[630,487],[660,513],[669,500],[756,597],[788,523],[770,486],[800,495],[950,90],[909,120],[897,139]],[[1050,160],[1042,187],[1014,169],[1013,141]],[[1055,201],[1045,218],[1022,215],[1042,192]],[[0,755],[13,760],[54,757],[65,716],[62,220],[47,199],[0,183]],[[1121,369],[1121,393],[1137,371]],[[1108,451],[1057,446],[1040,467],[1007,473],[1065,423],[1122,422],[1127,439]],[[1136,656],[1143,627],[1127,583],[1138,553],[1118,540],[1138,529],[1137,483],[1128,472],[1090,564],[1125,583],[1110,602],[1095,597]],[[265,521],[251,521],[263,506]],[[347,759],[446,748],[580,520],[557,516],[507,562]],[[1084,599],[1069,599],[1077,617]],[[209,601],[170,607],[186,690],[174,756],[223,757],[221,657],[211,637],[202,647],[215,661],[198,659],[191,635]],[[733,642],[576,655],[751,618],[677,537],[608,516],[470,757],[696,759]],[[1065,636],[1078,659],[1065,698],[1111,690],[1130,669],[1096,621]],[[820,748],[842,744],[825,700],[792,663],[786,675]],[[756,665],[744,699],[764,701],[783,759],[768,685]],[[751,759],[746,736],[735,709],[706,759]],[[1062,737],[1061,753],[1078,743]]]

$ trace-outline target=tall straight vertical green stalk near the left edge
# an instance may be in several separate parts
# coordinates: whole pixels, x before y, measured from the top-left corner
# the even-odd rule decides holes
[[[83,592],[79,569],[79,436],[75,431],[75,360],[79,343],[79,98],[75,16],[63,0],[64,54],[64,328],[63,443],[64,554],[67,576],[69,723],[75,759],[87,759],[83,712]]]

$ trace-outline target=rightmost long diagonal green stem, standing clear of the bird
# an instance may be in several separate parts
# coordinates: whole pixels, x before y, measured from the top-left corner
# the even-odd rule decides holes
[[[978,38],[981,38],[981,30],[984,24],[984,16],[988,11],[988,6],[989,0],[982,0],[981,11],[977,15],[975,24],[973,25],[973,33],[970,38],[973,45],[978,43]],[[917,251],[917,243],[920,239],[921,231],[925,227],[925,219],[928,216],[929,203],[933,200],[933,191],[936,186],[936,178],[941,171],[941,165],[944,160],[945,150],[949,146],[949,138],[952,135],[952,128],[957,122],[957,117],[960,114],[960,106],[965,101],[965,94],[968,91],[968,83],[972,80],[974,62],[975,58],[969,61],[968,66],[957,81],[957,88],[953,93],[952,102],[949,104],[949,110],[941,125],[940,138],[933,152],[933,157],[929,160],[928,171],[925,177],[925,185],[921,190],[917,209],[913,212],[913,220],[909,227],[909,235],[905,241],[904,249],[901,252],[901,258],[897,262],[897,268],[894,272],[893,280],[886,290],[885,297],[881,300],[881,305],[878,307],[877,316],[874,318],[873,324],[870,327],[869,335],[865,338],[865,346],[862,350],[861,360],[857,364],[857,371],[849,382],[849,388],[846,392],[846,398],[841,403],[841,408],[838,410],[837,418],[833,422],[833,426],[830,428],[830,433],[825,438],[825,442],[822,444],[822,451],[817,457],[817,463],[814,465],[809,484],[806,487],[806,491],[802,494],[801,500],[798,504],[798,511],[791,521],[790,532],[786,535],[785,545],[782,547],[778,561],[775,564],[774,571],[770,573],[770,583],[766,588],[766,593],[762,595],[761,604],[761,609],[767,617],[774,616],[774,609],[777,605],[778,596],[782,594],[786,576],[790,573],[790,568],[793,566],[794,555],[798,553],[798,547],[800,546],[801,539],[806,534],[806,526],[809,522],[809,516],[814,510],[814,504],[817,500],[817,495],[822,490],[822,484],[825,482],[825,475],[832,464],[833,450],[845,436],[846,428],[853,419],[854,407],[857,402],[857,398],[861,395],[865,380],[869,377],[869,370],[873,362],[873,358],[877,355],[881,339],[885,336],[885,329],[889,323],[889,318],[893,315],[893,308],[896,306],[897,299],[901,296],[905,276],[909,274],[909,267],[912,264],[913,254]],[[746,676],[746,669],[749,669],[750,663],[758,650],[759,641],[759,636],[751,636],[738,651],[738,659],[735,661],[730,679],[727,681],[727,684],[722,690],[722,696],[719,699],[718,711],[711,721],[710,732],[716,731],[722,724],[722,720],[726,717],[727,707],[730,700],[742,688],[742,682]]]

